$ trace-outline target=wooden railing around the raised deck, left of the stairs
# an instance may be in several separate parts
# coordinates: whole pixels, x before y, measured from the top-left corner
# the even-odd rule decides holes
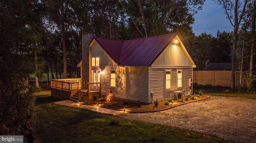
[[[77,91],[81,87],[81,78],[54,79],[51,80],[51,88]]]

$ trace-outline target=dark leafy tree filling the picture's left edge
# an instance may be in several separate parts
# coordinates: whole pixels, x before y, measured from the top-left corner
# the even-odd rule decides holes
[[[34,28],[36,0],[0,2],[0,134],[24,135],[24,142],[34,141],[31,129],[34,87],[28,78],[34,70]]]

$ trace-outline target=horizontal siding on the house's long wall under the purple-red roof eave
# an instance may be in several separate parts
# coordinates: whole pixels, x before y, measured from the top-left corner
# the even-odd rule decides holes
[[[102,69],[102,68],[101,68]],[[110,87],[110,70],[116,71],[116,87]],[[101,95],[112,90],[114,97],[148,103],[148,68],[106,66],[100,76]]]

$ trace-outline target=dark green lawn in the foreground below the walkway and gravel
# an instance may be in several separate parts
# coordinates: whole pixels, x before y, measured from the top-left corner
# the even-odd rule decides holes
[[[38,96],[36,140],[41,143],[228,143],[216,135],[54,104]]]

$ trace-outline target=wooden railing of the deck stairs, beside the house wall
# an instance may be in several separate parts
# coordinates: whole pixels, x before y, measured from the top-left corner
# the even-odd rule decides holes
[[[100,82],[87,83],[78,90],[78,103],[81,97],[88,95],[91,91],[100,91]]]

